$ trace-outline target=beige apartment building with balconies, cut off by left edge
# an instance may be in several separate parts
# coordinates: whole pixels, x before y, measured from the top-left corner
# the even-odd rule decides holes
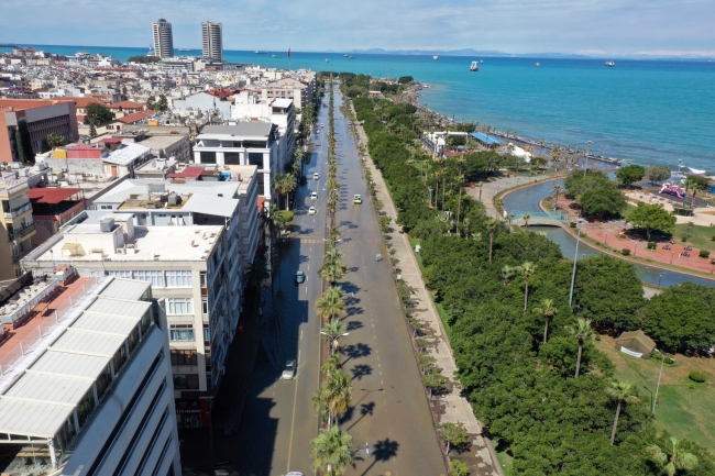
[[[26,179],[0,179],[0,280],[19,276],[20,258],[32,250],[35,234]]]

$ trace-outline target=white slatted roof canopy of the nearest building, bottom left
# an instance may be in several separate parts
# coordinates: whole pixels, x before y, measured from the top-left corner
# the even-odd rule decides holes
[[[34,359],[22,369],[0,378],[0,433],[32,439],[54,438],[66,424],[95,381],[114,358],[118,348],[130,337],[151,303],[103,296],[103,287],[112,278],[86,288],[76,298],[74,308],[63,316],[54,329],[35,346]],[[148,283],[140,283],[144,289]],[[62,292],[53,302],[66,303]],[[64,301],[64,302],[62,302]],[[4,346],[4,345],[3,345]]]

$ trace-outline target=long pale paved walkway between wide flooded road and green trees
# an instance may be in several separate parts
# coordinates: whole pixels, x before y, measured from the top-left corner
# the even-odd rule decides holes
[[[352,103],[350,107],[354,113]],[[361,143],[367,144],[367,137],[362,126],[358,126],[356,132]],[[377,199],[385,203],[384,211],[393,219],[393,221],[395,221],[397,219],[395,206],[387,192],[382,174],[377,170],[370,156],[367,156],[366,159],[366,167],[371,170],[372,178],[376,184]],[[524,178],[521,180],[524,180]],[[496,191],[494,193],[496,193]],[[483,196],[483,198],[485,196]],[[415,319],[422,322],[425,326],[431,331],[433,336],[433,346],[429,347],[428,351],[437,359],[437,365],[442,368],[442,374],[452,383],[453,388],[451,392],[435,397],[432,401],[433,406],[437,403],[436,406],[439,407],[440,421],[464,423],[466,431],[472,438],[470,452],[473,454],[474,458],[470,458],[470,461],[475,461],[474,466],[470,468],[472,475],[503,476],[504,473],[499,467],[491,442],[482,436],[482,423],[474,416],[468,399],[460,395],[462,392],[462,387],[454,378],[457,365],[454,364],[452,350],[448,339],[446,337],[446,332],[442,328],[442,322],[439,319],[437,309],[435,308],[435,302],[422,281],[419,265],[413,254],[408,237],[406,234],[398,233],[397,226],[395,226],[395,230],[391,233],[391,237],[393,248],[396,252],[395,257],[399,259],[402,278],[407,283],[407,285],[415,289],[415,295],[413,297],[413,300],[417,303],[414,312]]]

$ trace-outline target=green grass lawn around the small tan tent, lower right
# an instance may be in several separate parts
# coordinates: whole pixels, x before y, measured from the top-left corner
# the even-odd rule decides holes
[[[594,341],[596,347],[608,355],[616,366],[616,377],[638,389],[641,398],[652,401],[660,364],[631,357],[616,351],[612,337]],[[715,366],[712,358],[686,357],[675,354],[675,365],[663,367],[656,407],[656,428],[668,431],[678,439],[689,439],[715,454]],[[698,369],[707,373],[704,384],[695,384],[688,375]],[[692,384],[692,388],[691,388]]]

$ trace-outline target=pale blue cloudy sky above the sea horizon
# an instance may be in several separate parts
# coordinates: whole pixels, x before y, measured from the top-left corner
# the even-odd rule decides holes
[[[226,49],[459,49],[715,57],[714,0],[0,0],[0,42],[148,46],[151,23]]]

